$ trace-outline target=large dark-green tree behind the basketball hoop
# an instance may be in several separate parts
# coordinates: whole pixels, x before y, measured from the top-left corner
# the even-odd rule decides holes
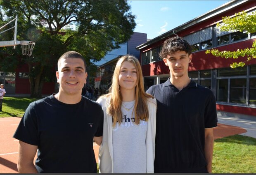
[[[0,48],[9,53],[0,55],[1,70],[28,64],[31,97],[40,97],[43,83],[54,80],[62,53],[78,51],[90,65],[128,41],[136,25],[126,0],[0,0],[0,8],[0,23],[18,14],[17,40],[36,42],[31,57],[19,47]]]

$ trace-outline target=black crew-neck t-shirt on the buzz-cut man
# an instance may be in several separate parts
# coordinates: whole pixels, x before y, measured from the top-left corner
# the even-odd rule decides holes
[[[28,106],[13,137],[38,146],[39,173],[96,173],[93,137],[102,131],[99,104],[86,97],[64,104],[51,95]]]

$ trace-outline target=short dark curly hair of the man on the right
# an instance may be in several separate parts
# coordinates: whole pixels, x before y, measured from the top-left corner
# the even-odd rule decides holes
[[[159,56],[161,59],[167,58],[167,55],[171,55],[177,51],[185,51],[190,55],[192,47],[185,39],[182,39],[181,37],[172,37],[164,41],[164,45]]]

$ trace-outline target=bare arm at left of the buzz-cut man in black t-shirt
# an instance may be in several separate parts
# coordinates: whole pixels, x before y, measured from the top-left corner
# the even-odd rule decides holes
[[[19,140],[18,170],[19,173],[38,173],[33,163],[38,146]]]

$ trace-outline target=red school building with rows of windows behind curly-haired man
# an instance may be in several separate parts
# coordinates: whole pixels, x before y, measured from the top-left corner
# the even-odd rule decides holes
[[[205,53],[211,48],[219,51],[251,48],[256,40],[256,33],[223,32],[216,27],[216,23],[222,22],[223,16],[234,16],[241,11],[247,13],[256,11],[256,1],[227,2],[137,46],[140,51],[145,89],[164,83],[170,76],[168,67],[159,58],[159,52],[166,39],[178,35],[192,45],[190,78],[213,91],[218,113],[234,117],[241,114],[244,117],[256,117],[256,59],[246,62],[244,67],[232,69],[230,68],[232,62],[245,61],[247,56],[234,60],[216,58]]]

